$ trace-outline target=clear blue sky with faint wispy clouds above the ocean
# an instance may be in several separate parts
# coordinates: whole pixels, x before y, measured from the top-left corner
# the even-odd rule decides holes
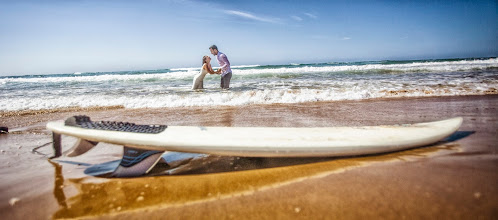
[[[0,75],[498,55],[496,1],[0,2]],[[217,66],[216,60],[212,61]]]

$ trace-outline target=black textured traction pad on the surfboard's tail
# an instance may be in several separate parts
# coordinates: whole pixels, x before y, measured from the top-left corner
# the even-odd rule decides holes
[[[158,134],[166,130],[167,125],[137,125],[129,122],[92,121],[86,115],[76,115],[66,119],[66,126],[106,131],[123,131],[133,133]]]

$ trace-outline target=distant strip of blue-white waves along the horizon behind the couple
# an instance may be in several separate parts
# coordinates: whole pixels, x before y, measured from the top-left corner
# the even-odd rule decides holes
[[[407,61],[404,61],[407,62]],[[245,65],[233,68],[234,77],[251,76],[274,77],[284,74],[310,73],[349,73],[349,74],[402,74],[402,73],[434,73],[434,72],[464,72],[498,68],[498,59],[458,60],[458,61],[425,61],[398,64],[369,64],[361,62],[355,64],[309,64],[309,65]],[[216,69],[216,67],[215,67]],[[60,82],[103,82],[103,81],[147,81],[155,80],[187,80],[199,73],[200,67],[168,69],[166,72],[133,74],[101,73],[101,74],[69,74],[64,76],[36,76],[36,77],[4,77],[0,78],[0,85],[6,83],[60,83]],[[154,71],[153,71],[154,72]]]

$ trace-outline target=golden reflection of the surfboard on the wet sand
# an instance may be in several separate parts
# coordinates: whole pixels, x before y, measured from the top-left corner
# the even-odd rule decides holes
[[[459,151],[453,141],[471,135],[457,132],[444,141],[428,147],[365,157],[339,158],[239,158],[210,156],[203,166],[186,170],[180,175],[145,176],[140,178],[64,178],[60,165],[55,168],[54,197],[59,210],[53,218],[105,216],[128,211],[161,209],[201,203],[278,188],[310,178],[320,178],[357,167],[394,161],[414,161],[437,155],[438,152]],[[205,158],[204,158],[205,159]],[[190,161],[191,162],[191,161]],[[93,165],[88,175],[106,175],[118,160]],[[80,166],[85,166],[80,165]],[[65,165],[66,166],[66,165]],[[70,169],[71,165],[67,165]],[[164,166],[164,165],[163,165]],[[88,167],[92,167],[88,165]],[[151,175],[164,173],[155,168]],[[88,168],[86,168],[88,170]],[[235,172],[237,171],[237,172]],[[77,194],[66,198],[64,189],[72,186]]]

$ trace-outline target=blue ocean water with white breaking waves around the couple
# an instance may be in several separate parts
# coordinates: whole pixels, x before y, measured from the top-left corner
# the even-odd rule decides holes
[[[216,68],[216,67],[215,67]],[[198,68],[0,77],[0,111],[156,108],[497,94],[498,59],[388,60],[232,67],[231,89]]]

